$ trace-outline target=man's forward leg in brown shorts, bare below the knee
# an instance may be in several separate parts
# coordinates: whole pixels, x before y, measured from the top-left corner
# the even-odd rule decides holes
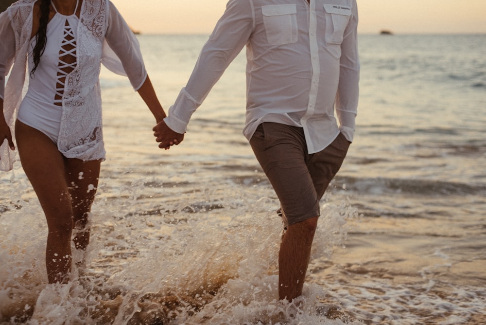
[[[302,294],[319,216],[304,134],[298,127],[264,123],[250,144],[280,200],[286,231],[278,257],[278,295],[292,301]]]

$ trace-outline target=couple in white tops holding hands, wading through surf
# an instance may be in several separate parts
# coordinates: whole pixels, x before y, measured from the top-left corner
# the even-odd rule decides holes
[[[357,24],[356,0],[229,0],[167,116],[111,1],[18,0],[0,14],[0,170],[18,150],[47,219],[49,283],[69,281],[71,241],[82,251],[89,242],[105,159],[101,64],[128,76],[169,149],[246,46],[243,134],[280,201],[279,299],[301,295],[319,200],[353,139]]]

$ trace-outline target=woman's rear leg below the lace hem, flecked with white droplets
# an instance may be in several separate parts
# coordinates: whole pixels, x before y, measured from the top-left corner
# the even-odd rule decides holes
[[[100,177],[100,161],[66,159],[66,181],[73,212],[74,247],[86,251],[89,243],[89,212]]]

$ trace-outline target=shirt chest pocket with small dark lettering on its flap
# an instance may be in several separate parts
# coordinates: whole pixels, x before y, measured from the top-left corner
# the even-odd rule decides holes
[[[324,4],[326,12],[326,43],[341,44],[351,16],[351,8],[336,4]]]

